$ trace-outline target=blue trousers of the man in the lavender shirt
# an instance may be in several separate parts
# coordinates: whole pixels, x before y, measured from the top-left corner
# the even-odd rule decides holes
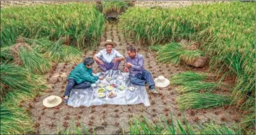
[[[152,74],[147,70],[143,70],[142,73],[135,74],[135,76],[130,76],[130,81],[131,84],[136,84],[138,86],[145,86],[145,84],[148,84],[150,89],[155,88]]]

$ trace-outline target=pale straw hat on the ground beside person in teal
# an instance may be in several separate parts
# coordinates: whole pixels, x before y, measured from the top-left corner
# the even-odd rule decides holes
[[[58,97],[56,95],[50,95],[49,97],[46,97],[43,100],[43,105],[48,108],[55,107],[55,106],[59,105],[60,103],[62,103],[62,98]]]

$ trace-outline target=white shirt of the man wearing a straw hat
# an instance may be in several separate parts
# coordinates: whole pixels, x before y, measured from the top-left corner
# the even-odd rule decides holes
[[[111,63],[114,58],[122,57],[122,54],[120,54],[117,50],[112,49],[111,53],[108,54],[106,49],[101,49],[98,54],[96,54],[98,58],[101,58],[102,61],[106,63]]]

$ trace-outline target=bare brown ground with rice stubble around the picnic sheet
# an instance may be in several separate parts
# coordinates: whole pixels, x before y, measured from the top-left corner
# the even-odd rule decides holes
[[[113,35],[113,36],[111,36]],[[120,40],[118,38],[120,36]],[[124,38],[121,31],[118,30],[117,23],[108,24],[106,29],[106,39],[111,39],[118,42],[118,51],[126,56],[126,46],[133,45],[132,39]],[[101,40],[106,40],[104,37]],[[95,52],[98,52],[104,47],[99,47],[96,51],[89,51],[86,56],[92,56]],[[145,69],[152,72],[153,77],[158,77],[160,74],[164,77],[169,78],[171,74],[177,72],[185,72],[185,67],[175,67],[173,65],[165,65],[157,63],[155,54],[148,51],[145,47],[140,47],[138,53],[145,56]],[[179,118],[183,121],[183,116],[178,109],[176,104],[176,93],[175,87],[169,86],[168,88],[159,88],[159,95],[149,95],[151,106],[143,106],[143,104],[137,105],[102,105],[102,106],[90,106],[90,107],[79,107],[73,108],[66,106],[64,103],[60,104],[54,109],[46,109],[42,102],[45,97],[49,95],[58,95],[62,97],[64,88],[66,87],[66,75],[72,70],[75,65],[71,63],[58,63],[53,74],[48,74],[52,77],[57,74],[59,81],[56,84],[51,84],[48,80],[49,85],[52,87],[50,90],[46,90],[41,97],[35,98],[29,104],[33,106],[30,109],[31,116],[36,122],[35,128],[38,134],[57,134],[57,129],[65,129],[66,127],[73,127],[72,123],[78,125],[78,121],[83,122],[89,129],[94,127],[97,134],[122,134],[129,132],[129,119],[133,119],[136,116],[147,117],[153,122],[159,121],[160,117],[167,117],[172,113],[173,118]],[[124,67],[123,62],[120,64],[120,70]],[[94,65],[93,67],[96,72],[99,72],[99,67]],[[53,80],[54,81],[54,80]],[[29,107],[28,104],[25,107]],[[217,112],[217,113],[216,113]],[[234,109],[204,109],[204,110],[191,110],[185,111],[187,120],[191,123],[201,124],[208,122],[209,120],[215,120],[217,123],[227,123],[232,125],[236,120],[234,116],[237,113]],[[240,118],[240,116],[238,116]],[[79,126],[79,125],[78,125]]]

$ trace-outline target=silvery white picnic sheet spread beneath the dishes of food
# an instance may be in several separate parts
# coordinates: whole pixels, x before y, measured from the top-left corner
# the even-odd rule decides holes
[[[104,75],[103,80],[96,82],[97,86],[95,88],[86,88],[86,89],[73,89],[69,97],[69,106],[78,107],[78,106],[93,106],[101,104],[141,104],[145,106],[150,106],[148,100],[148,93],[145,90],[145,86],[137,86],[131,84],[129,81],[129,73],[121,72],[120,70],[108,70],[106,72],[99,72],[94,75]],[[111,91],[105,89],[105,97],[98,97],[99,84],[105,84],[106,87],[110,84],[116,84],[117,87],[112,91],[116,93],[115,97],[108,97],[108,94]],[[118,89],[118,86],[124,86],[123,90]],[[134,90],[129,90],[130,87],[134,87]],[[122,88],[121,88],[122,89]]]

